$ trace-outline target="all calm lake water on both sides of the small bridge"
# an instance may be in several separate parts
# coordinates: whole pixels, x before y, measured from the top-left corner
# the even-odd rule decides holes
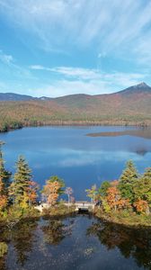
[[[138,172],[151,166],[151,139],[133,135],[89,137],[88,133],[122,132],[123,127],[41,127],[0,134],[5,141],[6,167],[14,171],[24,155],[34,179],[44,184],[50,175],[64,178],[76,200],[84,190],[120,176],[125,162],[134,160]],[[140,134],[140,132],[138,132]],[[59,220],[23,220],[13,228],[0,228],[0,242],[8,253],[0,258],[2,270],[136,270],[151,269],[151,230],[128,229],[76,215]]]

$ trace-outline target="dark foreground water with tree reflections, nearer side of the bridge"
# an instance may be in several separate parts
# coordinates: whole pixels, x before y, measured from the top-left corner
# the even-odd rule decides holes
[[[1,270],[151,269],[151,230],[89,216],[23,221],[1,228],[8,253]]]

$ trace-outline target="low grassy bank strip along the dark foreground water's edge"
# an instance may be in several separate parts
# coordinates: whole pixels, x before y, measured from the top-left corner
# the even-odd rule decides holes
[[[54,209],[56,212],[54,212]],[[30,213],[30,212],[29,212]],[[10,220],[0,220],[0,228],[7,227],[13,228],[15,224],[18,222],[22,222],[23,220],[39,220],[42,219],[64,219],[67,217],[76,217],[78,214],[87,214],[92,215],[94,218],[98,220],[103,220],[115,225],[120,225],[123,227],[131,228],[131,229],[151,229],[151,216],[146,215],[134,215],[132,213],[129,213],[128,217],[123,216],[123,212],[111,212],[111,213],[105,213],[104,211],[101,211],[100,209],[94,209],[84,212],[77,212],[75,210],[75,206],[70,206],[69,208],[66,205],[62,205],[62,209],[58,209],[58,207],[52,207],[49,209],[45,209],[44,211],[40,212],[36,210],[34,213],[27,214],[25,216],[22,216],[19,220],[17,219],[10,219]],[[129,222],[129,218],[131,218],[131,221]]]

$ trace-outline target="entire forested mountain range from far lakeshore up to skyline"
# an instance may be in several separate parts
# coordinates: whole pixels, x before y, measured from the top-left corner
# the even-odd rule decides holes
[[[151,87],[145,83],[113,94],[34,98],[8,93],[0,94],[0,101],[0,131],[58,124],[151,126]]]

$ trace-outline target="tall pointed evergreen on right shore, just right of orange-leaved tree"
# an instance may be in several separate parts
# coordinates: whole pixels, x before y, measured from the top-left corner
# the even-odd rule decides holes
[[[134,163],[129,160],[125,170],[120,175],[119,189],[122,198],[129,199],[129,202],[134,202],[135,193],[134,185],[138,181],[138,172]]]

